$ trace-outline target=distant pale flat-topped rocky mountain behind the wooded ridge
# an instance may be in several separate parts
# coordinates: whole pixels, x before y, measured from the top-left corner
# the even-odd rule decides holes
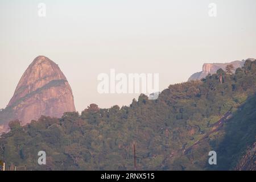
[[[249,59],[254,61],[255,59]],[[201,72],[194,73],[191,77],[188,78],[188,81],[191,80],[201,80],[206,77],[208,74],[214,74],[218,69],[223,69],[225,71],[226,66],[233,64],[234,69],[241,68],[245,64],[245,60],[242,61],[232,61],[230,63],[205,63]]]

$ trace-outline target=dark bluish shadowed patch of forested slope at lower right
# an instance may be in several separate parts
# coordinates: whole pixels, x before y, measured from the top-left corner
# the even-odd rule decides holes
[[[218,165],[213,169],[227,169],[236,167],[241,154],[246,148],[255,142],[256,136],[256,96],[248,98],[233,118],[225,126],[225,138],[217,147]],[[254,154],[255,155],[255,154]]]

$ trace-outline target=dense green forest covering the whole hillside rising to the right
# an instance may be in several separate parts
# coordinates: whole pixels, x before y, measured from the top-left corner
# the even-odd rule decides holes
[[[246,60],[234,74],[220,69],[201,81],[170,85],[157,100],[141,94],[129,107],[91,104],[81,115],[42,116],[23,127],[13,121],[0,138],[0,160],[33,170],[126,170],[133,169],[135,143],[137,169],[233,169],[255,142],[255,83],[256,61]],[[230,109],[232,118],[200,140]],[[42,150],[45,166],[38,164]],[[208,164],[211,150],[217,152],[216,166]]]

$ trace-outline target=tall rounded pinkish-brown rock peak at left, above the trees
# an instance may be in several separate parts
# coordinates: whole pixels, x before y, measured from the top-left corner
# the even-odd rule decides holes
[[[25,125],[41,115],[61,117],[76,109],[71,87],[58,65],[38,56],[20,78],[5,110],[10,111],[11,119],[19,119]]]

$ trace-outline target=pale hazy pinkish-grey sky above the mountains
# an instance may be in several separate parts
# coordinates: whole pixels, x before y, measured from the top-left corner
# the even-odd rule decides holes
[[[256,58],[255,22],[255,0],[0,0],[0,108],[38,55],[59,65],[77,110],[129,105],[136,94],[99,94],[98,74],[159,73],[163,90],[203,63]]]

